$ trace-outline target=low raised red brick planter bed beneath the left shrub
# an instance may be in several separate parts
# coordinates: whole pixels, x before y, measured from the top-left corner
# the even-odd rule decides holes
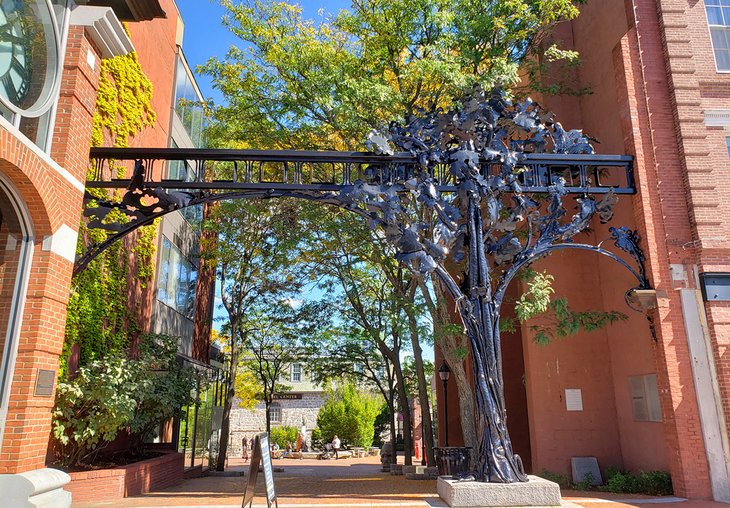
[[[64,487],[75,503],[113,501],[177,485],[183,480],[182,453],[166,453],[113,469],[69,473]]]

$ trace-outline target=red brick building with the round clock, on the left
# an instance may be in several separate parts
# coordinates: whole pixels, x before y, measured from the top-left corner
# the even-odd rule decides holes
[[[128,32],[120,20],[128,22]],[[186,123],[176,108],[180,93],[192,101],[200,93],[184,62],[183,23],[174,0],[5,2],[0,5],[0,25],[3,33],[13,36],[10,42],[0,38],[0,486],[5,488],[9,484],[2,482],[10,476],[3,475],[41,470],[54,477],[42,468],[101,60],[136,50],[153,83],[157,121],[136,136],[132,146],[200,146],[202,113],[185,115],[197,120]],[[169,220],[177,220],[175,229],[184,236],[184,221]],[[165,224],[160,228],[161,245]],[[156,264],[170,267],[187,256],[189,273],[197,262],[193,240],[185,238],[174,262],[160,254]],[[163,250],[158,248],[158,253]],[[195,281],[183,282],[192,286],[188,293],[194,298]],[[132,289],[134,301],[143,302],[140,324],[144,330],[171,335],[185,331],[185,336],[179,334],[181,355],[197,351],[197,360],[207,361],[208,337],[201,339],[205,347],[193,347],[192,316],[182,316],[174,329],[154,324],[163,312],[159,288],[170,284],[174,286],[156,278],[146,289]],[[181,463],[182,457],[178,469]],[[67,479],[49,481],[61,485]]]

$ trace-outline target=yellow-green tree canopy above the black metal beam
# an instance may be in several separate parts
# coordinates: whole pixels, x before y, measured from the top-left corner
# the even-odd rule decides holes
[[[252,148],[354,149],[375,125],[518,82],[573,0],[354,0],[322,21],[286,2],[221,0],[241,41],[203,71],[227,101],[214,137]]]

